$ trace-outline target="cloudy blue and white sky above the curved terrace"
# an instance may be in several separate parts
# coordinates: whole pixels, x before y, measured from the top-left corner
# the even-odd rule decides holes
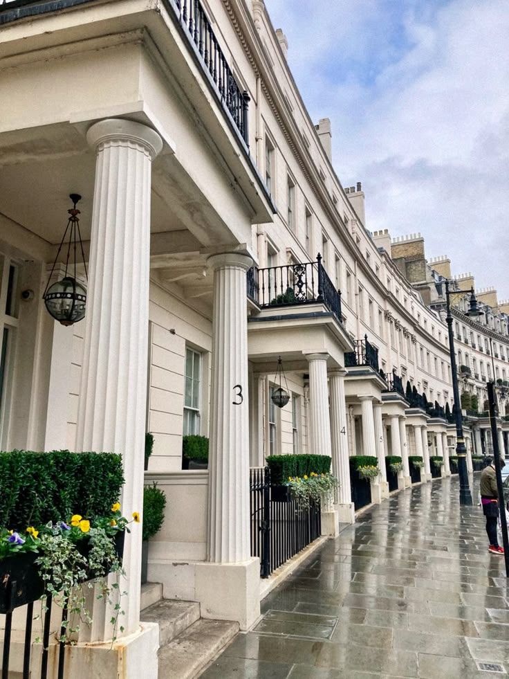
[[[367,228],[509,298],[508,0],[266,0],[311,118],[331,118]]]

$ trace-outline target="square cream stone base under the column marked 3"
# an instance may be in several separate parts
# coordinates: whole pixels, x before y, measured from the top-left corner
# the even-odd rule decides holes
[[[233,620],[243,631],[259,618],[260,560],[257,556],[243,563],[196,563],[194,577],[201,617]]]

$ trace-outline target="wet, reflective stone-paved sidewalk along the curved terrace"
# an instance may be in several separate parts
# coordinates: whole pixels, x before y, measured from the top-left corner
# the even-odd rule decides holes
[[[478,477],[474,503],[478,497]],[[395,494],[262,602],[202,679],[490,679],[509,672],[509,581],[457,478]],[[484,667],[483,667],[484,666]]]

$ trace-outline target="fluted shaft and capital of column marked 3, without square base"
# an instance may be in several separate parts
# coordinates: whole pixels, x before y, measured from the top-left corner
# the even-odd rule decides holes
[[[250,257],[213,255],[208,561],[250,558],[248,316]]]

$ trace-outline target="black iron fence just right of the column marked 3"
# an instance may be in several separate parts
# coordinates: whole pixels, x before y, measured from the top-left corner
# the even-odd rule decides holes
[[[250,469],[251,556],[260,574],[279,566],[320,537],[320,502],[297,500],[286,486],[272,486],[270,469]]]

